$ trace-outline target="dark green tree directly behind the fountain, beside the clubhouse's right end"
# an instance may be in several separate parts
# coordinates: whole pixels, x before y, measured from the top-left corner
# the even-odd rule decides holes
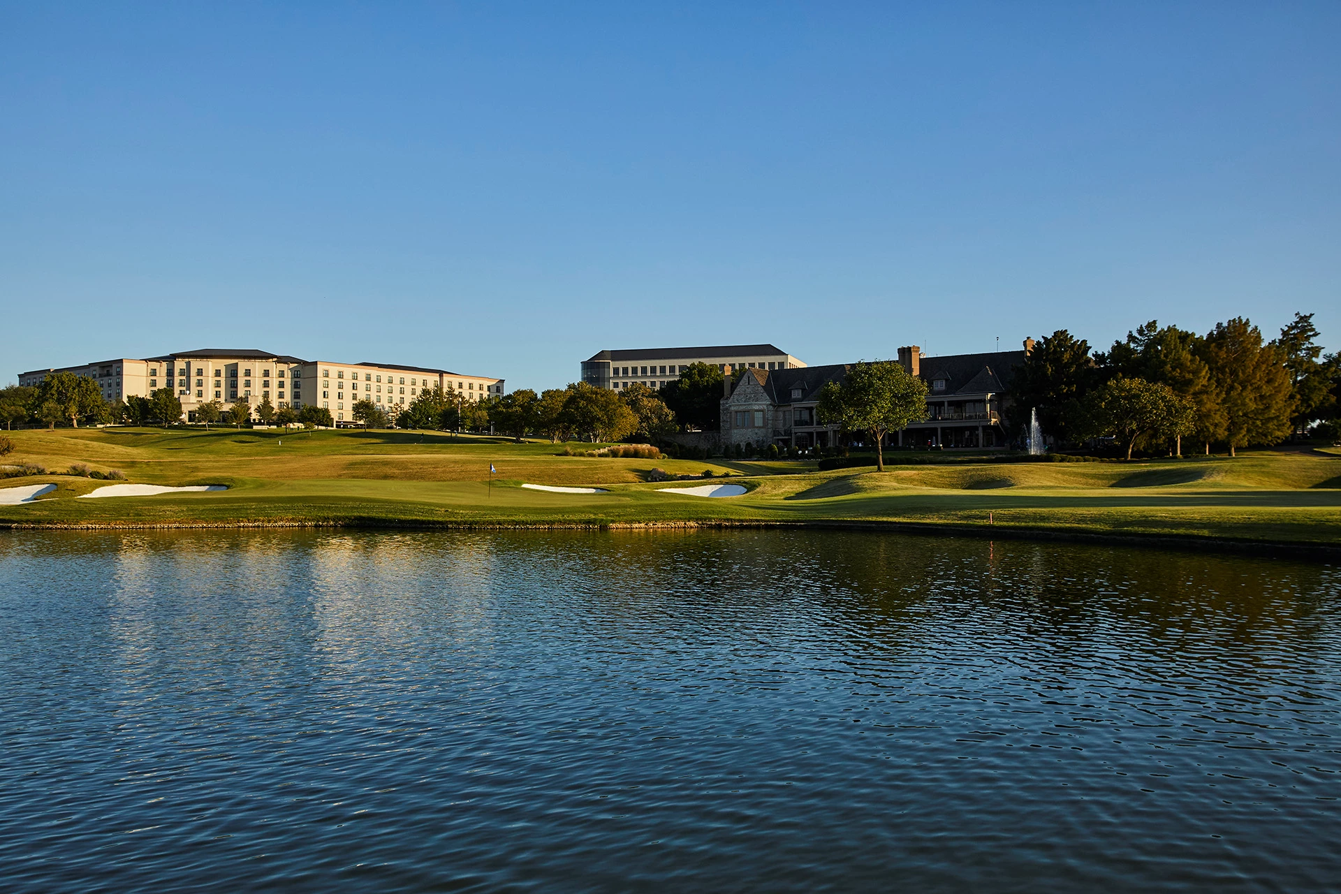
[[[1014,370],[1011,413],[1016,426],[1027,424],[1030,411],[1037,410],[1043,432],[1069,441],[1080,402],[1097,378],[1085,339],[1066,330],[1045,335]]]

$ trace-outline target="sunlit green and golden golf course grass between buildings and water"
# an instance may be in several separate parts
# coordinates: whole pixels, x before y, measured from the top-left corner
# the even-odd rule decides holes
[[[0,480],[0,497],[9,488],[42,491],[27,501],[0,500],[4,527],[940,525],[987,527],[999,536],[1341,550],[1334,448],[1132,462],[892,453],[877,473],[873,466],[819,472],[814,461],[565,456],[562,444],[443,432],[190,426],[7,434],[15,445],[7,466],[47,473]],[[80,465],[86,474],[67,473]],[[650,483],[653,468],[712,476]],[[668,492],[724,481],[746,492],[724,499]],[[227,489],[78,499],[125,484]]]

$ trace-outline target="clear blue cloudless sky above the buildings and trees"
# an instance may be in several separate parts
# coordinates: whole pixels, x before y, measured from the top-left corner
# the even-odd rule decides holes
[[[0,379],[1341,347],[1341,4],[0,5]]]

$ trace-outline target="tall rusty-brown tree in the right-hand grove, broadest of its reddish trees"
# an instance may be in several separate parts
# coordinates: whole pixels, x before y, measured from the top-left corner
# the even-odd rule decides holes
[[[1236,454],[1236,448],[1278,444],[1290,434],[1285,355],[1277,346],[1262,343],[1258,327],[1242,316],[1216,323],[1203,342],[1202,359],[1223,395],[1230,456]]]

